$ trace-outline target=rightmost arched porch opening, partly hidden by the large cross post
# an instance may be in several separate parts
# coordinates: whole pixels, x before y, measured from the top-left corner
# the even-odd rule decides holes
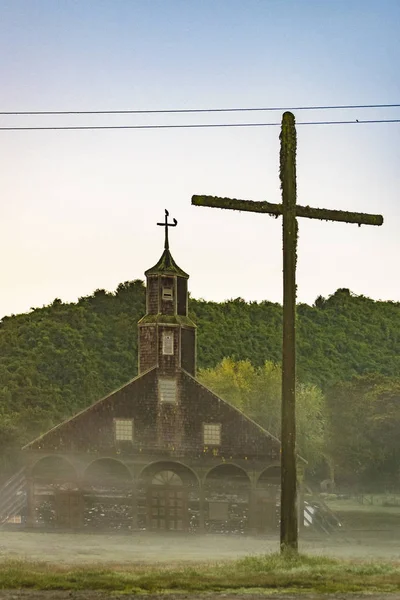
[[[267,467],[257,480],[256,524],[259,533],[276,531],[279,527],[281,468]]]

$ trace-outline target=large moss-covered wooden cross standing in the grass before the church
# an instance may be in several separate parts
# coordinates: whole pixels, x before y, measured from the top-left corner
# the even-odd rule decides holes
[[[296,415],[295,415],[295,311],[297,219],[322,219],[358,225],[382,225],[381,215],[368,215],[341,210],[326,210],[296,205],[296,129],[294,115],[282,116],[280,180],[282,204],[193,196],[195,206],[267,213],[283,217],[283,350],[282,350],[282,429],[281,429],[281,551],[298,549],[296,511]]]

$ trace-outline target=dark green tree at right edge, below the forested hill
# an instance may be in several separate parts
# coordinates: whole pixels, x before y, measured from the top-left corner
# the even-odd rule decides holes
[[[400,380],[357,376],[327,393],[328,452],[336,480],[349,485],[398,487]]]

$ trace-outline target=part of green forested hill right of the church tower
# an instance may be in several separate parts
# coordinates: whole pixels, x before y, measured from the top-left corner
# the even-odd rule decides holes
[[[271,302],[192,300],[198,324],[199,366],[226,356],[280,362],[282,309]],[[400,376],[400,304],[337,290],[297,309],[298,375],[326,389],[354,375]]]

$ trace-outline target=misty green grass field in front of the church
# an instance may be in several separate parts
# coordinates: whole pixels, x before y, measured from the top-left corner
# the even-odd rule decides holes
[[[90,598],[101,592],[220,592],[240,600],[257,593],[399,593],[400,507],[354,500],[333,500],[328,506],[343,531],[306,532],[301,548],[307,554],[299,556],[277,554],[277,536],[3,533],[0,597],[1,590],[26,590],[28,596],[47,590],[47,600],[77,590],[86,590]],[[14,597],[5,593],[4,598]]]

